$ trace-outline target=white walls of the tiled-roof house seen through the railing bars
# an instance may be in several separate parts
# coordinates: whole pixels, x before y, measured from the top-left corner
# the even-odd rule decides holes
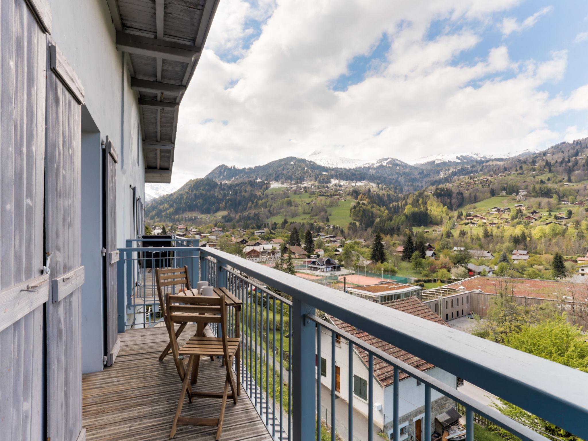
[[[327,362],[326,377],[321,377],[323,385],[330,389],[331,387],[331,333],[329,330],[321,329],[321,340],[320,340],[320,353],[321,357]],[[335,343],[335,365],[339,366],[340,369],[340,392],[336,392],[337,396],[342,397],[344,400],[349,400],[349,345],[345,339],[341,339],[340,343]],[[320,360],[318,362],[318,375],[320,375]],[[426,371],[426,373],[446,385],[456,387],[457,378],[452,373],[446,372],[440,368],[432,368]],[[362,359],[357,354],[353,355],[353,375],[358,375],[366,381],[369,385],[368,368],[363,363]],[[386,423],[392,421],[393,415],[393,387],[392,385],[382,387],[380,383],[374,378],[373,380],[374,391],[373,391],[373,402],[374,405],[380,403],[382,410],[375,410],[373,412],[374,423],[383,427]],[[431,400],[434,401],[442,395],[436,390],[431,391]],[[425,385],[416,384],[416,379],[406,378],[400,381],[399,390],[399,417],[402,419],[403,415],[413,412],[425,405]],[[360,399],[357,395],[353,396],[353,407],[360,413],[368,415],[368,402]]]

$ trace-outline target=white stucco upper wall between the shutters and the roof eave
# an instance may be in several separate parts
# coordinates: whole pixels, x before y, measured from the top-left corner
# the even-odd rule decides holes
[[[136,186],[137,196],[145,201],[145,163],[142,149],[137,148],[139,109],[130,88],[130,75],[123,69],[122,52],[116,51],[115,28],[105,0],[49,2],[53,18],[51,39],[79,76],[85,89],[86,108],[101,138],[108,135],[119,153],[116,242],[125,246],[132,215],[129,186]]]

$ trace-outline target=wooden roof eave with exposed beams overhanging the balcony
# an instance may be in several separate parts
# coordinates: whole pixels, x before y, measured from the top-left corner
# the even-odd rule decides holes
[[[181,0],[155,0],[151,11],[139,0],[106,2],[116,30],[116,46],[125,52],[131,88],[139,104],[145,182],[169,183],[179,105],[198,65],[219,0],[194,0],[189,6]]]

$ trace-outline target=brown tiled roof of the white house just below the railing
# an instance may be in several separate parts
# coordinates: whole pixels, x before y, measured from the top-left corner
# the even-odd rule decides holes
[[[448,326],[443,320],[436,315],[432,310],[429,309],[425,303],[421,302],[416,297],[409,297],[406,299],[401,300],[394,300],[393,302],[386,302],[382,303],[382,305],[389,306],[390,308],[394,308],[396,310],[406,312],[412,314],[416,317],[423,318],[425,320],[430,320],[431,322],[439,323],[439,325]],[[412,366],[415,369],[420,370],[421,372],[434,368],[435,366],[425,360],[416,357],[412,354],[409,354],[403,349],[397,348],[394,345],[390,345],[390,343],[386,343],[379,338],[374,337],[373,335],[368,334],[367,332],[363,332],[360,329],[355,328],[355,326],[349,325],[349,323],[345,323],[342,320],[336,319],[333,316],[327,315],[330,322],[333,325],[337,326],[337,328],[350,333],[351,335],[355,336],[356,338],[362,340],[368,345],[372,345],[374,348],[382,350],[383,352],[387,353],[394,358],[399,359],[402,362],[407,363],[408,365]],[[369,355],[362,348],[355,347],[356,352],[358,353],[359,357],[362,359],[363,363],[368,366],[369,363]],[[377,357],[373,358],[373,373],[376,380],[384,387],[391,385],[394,382],[394,368],[390,366],[388,363],[380,360]],[[408,375],[404,372],[400,372],[399,379],[403,380]]]

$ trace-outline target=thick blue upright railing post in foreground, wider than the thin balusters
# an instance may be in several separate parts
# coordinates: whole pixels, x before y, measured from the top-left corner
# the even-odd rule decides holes
[[[292,299],[292,439],[315,437],[315,322],[305,317],[315,308]],[[320,373],[319,373],[320,375]]]

